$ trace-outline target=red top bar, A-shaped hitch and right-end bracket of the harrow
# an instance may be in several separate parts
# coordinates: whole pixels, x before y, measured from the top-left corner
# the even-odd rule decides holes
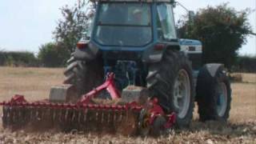
[[[92,104],[90,103],[91,98],[96,98],[97,95],[102,91],[107,90],[110,93],[112,99],[121,98],[121,94],[115,88],[114,85],[114,74],[110,73],[107,75],[106,82],[96,89],[91,90],[89,93],[82,95],[82,98],[77,103],[53,103],[47,100],[38,102],[27,102],[23,95],[14,95],[10,102],[0,102],[0,106],[30,106],[30,107],[47,107],[53,109],[90,109],[90,110],[133,110],[140,112],[142,109],[147,110],[150,114],[149,124],[153,125],[155,118],[158,116],[164,116],[167,118],[166,124],[163,128],[168,129],[174,126],[176,114],[165,114],[162,107],[158,105],[158,98],[153,98],[145,105],[139,105],[138,102],[126,103],[126,105],[104,105],[104,104]]]

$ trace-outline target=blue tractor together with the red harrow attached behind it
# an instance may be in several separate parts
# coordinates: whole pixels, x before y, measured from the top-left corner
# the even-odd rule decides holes
[[[92,1],[90,39],[71,54],[65,85],[53,87],[49,101],[15,95],[0,102],[4,128],[42,123],[65,131],[158,135],[174,122],[189,127],[195,100],[201,121],[229,118],[226,70],[220,63],[201,66],[201,42],[177,38],[173,0]]]

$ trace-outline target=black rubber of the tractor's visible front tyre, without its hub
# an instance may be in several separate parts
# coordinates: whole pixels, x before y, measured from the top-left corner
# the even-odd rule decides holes
[[[219,120],[226,121],[230,116],[231,88],[230,80],[223,72],[222,68],[217,71],[215,77],[211,77],[206,68],[203,68],[198,74],[196,87],[198,114],[200,121]],[[226,113],[220,117],[217,111],[218,95],[216,86],[218,82],[224,82],[227,89]]]

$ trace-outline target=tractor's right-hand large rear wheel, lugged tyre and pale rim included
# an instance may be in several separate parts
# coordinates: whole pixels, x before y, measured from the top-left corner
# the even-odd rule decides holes
[[[185,54],[166,50],[162,61],[149,67],[147,87],[166,112],[176,112],[179,128],[190,126],[194,110],[194,84]]]

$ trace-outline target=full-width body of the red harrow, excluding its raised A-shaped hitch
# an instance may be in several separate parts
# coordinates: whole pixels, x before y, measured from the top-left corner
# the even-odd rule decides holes
[[[10,130],[52,129],[64,132],[74,130],[134,135],[142,134],[142,130],[146,130],[145,134],[149,134],[154,130],[169,129],[175,121],[175,114],[165,114],[156,98],[144,105],[117,100],[90,99],[90,102],[87,102],[87,99],[82,100],[85,101],[27,102],[23,96],[15,95],[10,102],[0,102],[0,106],[3,106],[2,126]],[[158,122],[160,117],[166,121]]]

